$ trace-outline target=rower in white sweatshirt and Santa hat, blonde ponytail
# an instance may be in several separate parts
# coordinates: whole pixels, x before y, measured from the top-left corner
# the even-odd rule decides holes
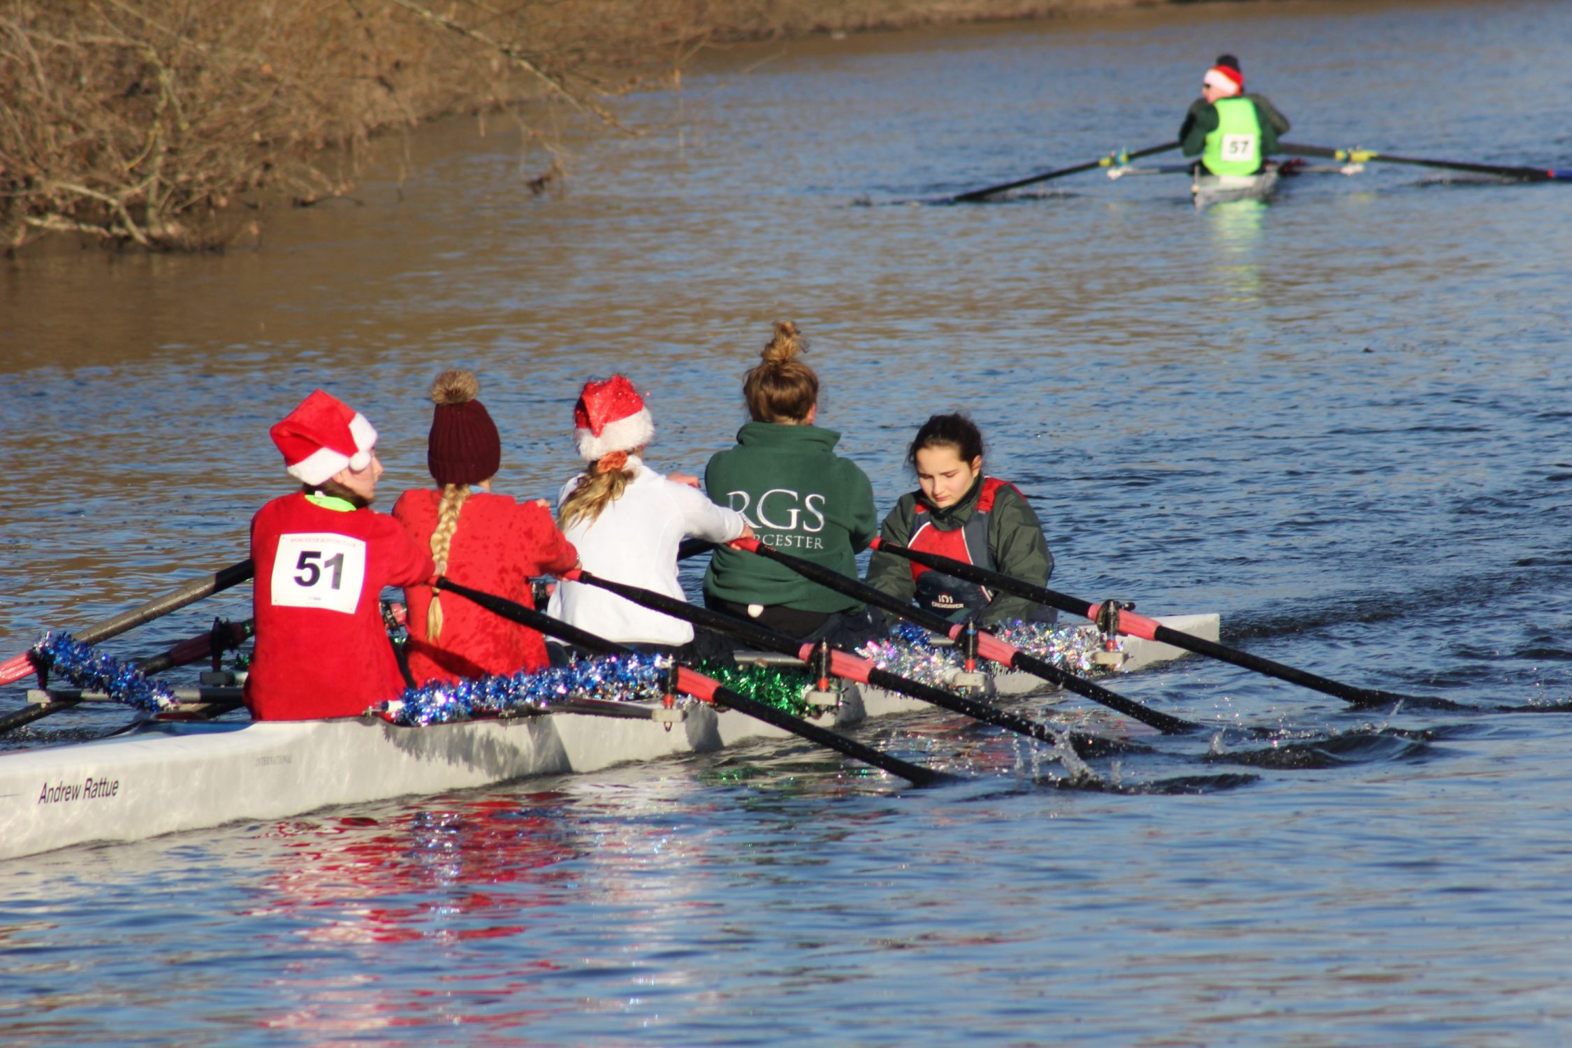
[[[656,423],[626,377],[585,383],[574,405],[574,435],[588,465],[563,486],[556,512],[585,570],[685,600],[678,581],[678,545],[684,537],[753,537],[742,514],[698,490],[698,478],[662,476],[645,464]],[[619,644],[684,647],[695,641],[687,622],[583,583],[560,583],[549,611]],[[711,647],[704,644],[696,654],[718,654]],[[722,647],[729,658],[729,644]]]

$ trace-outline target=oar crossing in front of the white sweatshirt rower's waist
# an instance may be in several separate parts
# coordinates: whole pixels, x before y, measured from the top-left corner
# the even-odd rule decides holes
[[[567,581],[583,583],[586,586],[597,586],[607,592],[623,597],[624,600],[632,600],[637,605],[660,611],[662,614],[670,614],[671,617],[682,619],[684,622],[692,622],[693,625],[701,625],[718,633],[728,633],[764,650],[794,655],[810,666],[817,663],[816,644],[794,639],[784,633],[777,633],[775,630],[762,627],[758,622],[747,622],[711,608],[700,608],[685,600],[678,600],[640,586],[629,586],[627,583],[601,578],[599,575],[593,575],[583,569],[567,572],[563,578]],[[872,661],[861,658],[854,652],[830,649],[828,654],[828,671],[836,677],[844,677],[858,683],[871,683],[877,688],[888,688],[890,691],[899,691],[901,694],[909,694],[913,699],[931,702],[954,713],[971,716],[987,724],[995,724],[1019,735],[1028,735],[1050,745],[1058,745],[1060,742],[1060,735],[1056,735],[1052,729],[1017,713],[945,691],[943,688],[935,688],[923,683],[921,680],[901,677],[888,669],[880,669]],[[1097,738],[1096,735],[1071,732],[1069,742],[1083,757],[1110,753],[1110,740]],[[1127,746],[1122,745],[1115,748],[1127,749]]]

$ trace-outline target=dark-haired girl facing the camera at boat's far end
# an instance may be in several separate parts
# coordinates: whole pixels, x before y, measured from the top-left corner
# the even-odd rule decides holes
[[[918,490],[885,517],[879,537],[924,553],[976,564],[1016,578],[1049,581],[1053,555],[1042,523],[1020,490],[982,473],[982,434],[965,415],[934,415],[916,431],[907,460]],[[874,551],[868,583],[887,594],[960,622],[1016,619],[1052,622],[1055,613],[1022,597],[994,592],[893,553]]]

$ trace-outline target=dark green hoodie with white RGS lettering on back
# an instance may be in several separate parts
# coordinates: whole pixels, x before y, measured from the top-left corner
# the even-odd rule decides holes
[[[704,490],[747,517],[759,542],[857,578],[857,555],[872,542],[879,514],[868,475],[835,454],[839,438],[819,426],[748,423],[737,431],[736,448],[709,460]],[[800,611],[861,606],[784,564],[728,548],[711,558],[704,592]]]

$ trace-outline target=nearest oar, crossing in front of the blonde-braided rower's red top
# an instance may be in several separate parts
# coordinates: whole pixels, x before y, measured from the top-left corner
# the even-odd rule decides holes
[[[547,633],[558,639],[567,641],[569,644],[577,644],[580,647],[605,652],[610,655],[630,654],[630,649],[624,647],[623,644],[608,641],[604,636],[596,636],[588,630],[580,630],[575,625],[569,625],[566,622],[553,619],[552,616],[542,611],[536,611],[534,608],[527,608],[522,603],[508,600],[506,597],[498,597],[497,594],[489,594],[481,589],[470,589],[468,586],[462,586],[450,578],[437,578],[432,589],[459,594],[461,597],[473,600],[475,603],[486,608],[492,614],[498,614],[508,619],[509,622],[517,622],[539,633]],[[773,705],[767,705],[764,702],[759,702],[758,699],[739,694],[731,688],[725,688],[718,682],[706,677],[701,672],[689,669],[687,666],[681,666],[678,669],[678,688],[706,702],[718,702],[722,705],[737,710],[739,713],[745,713],[748,716],[753,716],[755,720],[761,720],[766,724],[773,724],[775,727],[791,732],[792,735],[806,738],[808,742],[816,742],[821,746],[835,749],[836,753],[846,754],[847,757],[855,757],[863,764],[882,768],[885,771],[890,771],[891,775],[899,775],[902,779],[915,782],[916,786],[932,786],[934,782],[942,782],[953,778],[949,775],[945,775],[943,771],[934,771],[932,768],[923,768],[915,764],[901,760],[899,757],[891,757],[887,753],[880,753],[872,746],[865,746],[863,743],[854,738],[847,738],[846,735],[838,735],[832,731],[819,727],[817,724],[810,724],[808,721],[792,716],[784,710],[777,710]]]

